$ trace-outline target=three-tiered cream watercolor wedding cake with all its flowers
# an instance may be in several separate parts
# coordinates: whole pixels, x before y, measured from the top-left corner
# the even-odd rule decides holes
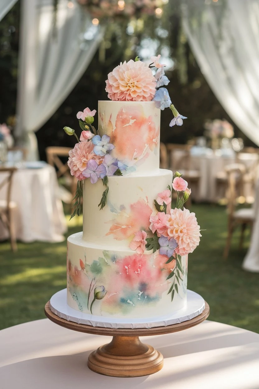
[[[160,88],[169,80],[159,57],[153,57],[155,75],[132,60],[108,75],[113,101],[99,102],[98,131],[95,110],[78,112],[83,131],[68,161],[78,179],[76,212],[83,195],[83,232],[68,238],[67,303],[118,321],[161,318],[183,308],[188,253],[200,240],[195,215],[183,208],[187,182],[159,168],[160,109],[172,110],[170,126],[184,119]]]

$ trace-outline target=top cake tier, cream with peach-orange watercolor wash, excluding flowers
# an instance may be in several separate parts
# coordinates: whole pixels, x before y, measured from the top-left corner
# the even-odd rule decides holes
[[[149,175],[159,169],[160,109],[155,102],[99,101],[98,130],[111,137],[111,155],[127,174]]]

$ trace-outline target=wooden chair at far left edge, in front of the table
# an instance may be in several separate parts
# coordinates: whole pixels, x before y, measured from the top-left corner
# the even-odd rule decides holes
[[[2,179],[0,177],[0,189],[5,187],[6,200],[0,200],[0,220],[5,225],[10,235],[12,251],[17,250],[15,226],[13,221],[13,211],[17,207],[16,203],[11,201],[12,180],[16,168],[0,167],[0,173],[7,173]]]

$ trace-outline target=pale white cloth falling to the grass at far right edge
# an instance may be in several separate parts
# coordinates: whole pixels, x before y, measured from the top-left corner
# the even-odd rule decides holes
[[[243,260],[242,268],[248,272],[259,273],[259,180],[256,185],[256,198],[253,207],[256,220],[252,228],[249,250]]]

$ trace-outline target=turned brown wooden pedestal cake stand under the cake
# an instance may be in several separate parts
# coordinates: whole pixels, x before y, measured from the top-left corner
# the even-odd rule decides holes
[[[162,335],[182,331],[203,322],[210,313],[205,301],[203,312],[191,320],[179,324],[153,328],[104,328],[77,324],[61,319],[50,310],[50,301],[45,305],[46,316],[59,326],[74,331],[113,336],[110,343],[93,351],[88,358],[89,369],[112,377],[141,377],[156,373],[163,367],[163,356],[154,347],[142,343],[139,336]]]

